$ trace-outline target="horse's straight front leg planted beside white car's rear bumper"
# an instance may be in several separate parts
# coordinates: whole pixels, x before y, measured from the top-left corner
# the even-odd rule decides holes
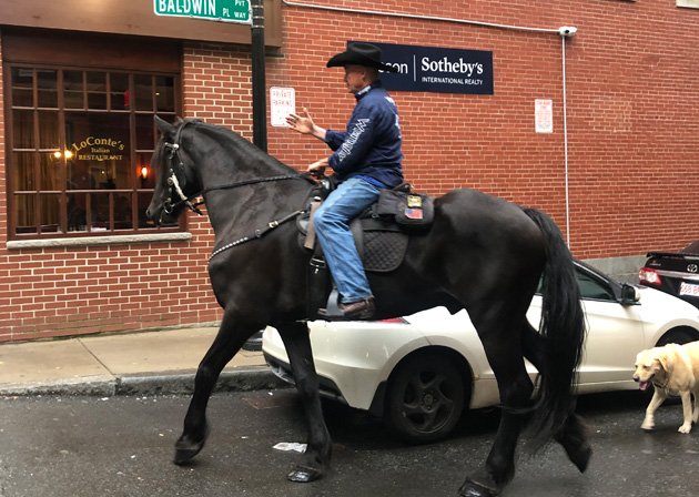
[[[332,442],[323,418],[308,327],[303,323],[287,323],[277,326],[277,329],[286,347],[308,430],[306,452],[287,478],[300,483],[313,481],[322,478],[330,466]]]

